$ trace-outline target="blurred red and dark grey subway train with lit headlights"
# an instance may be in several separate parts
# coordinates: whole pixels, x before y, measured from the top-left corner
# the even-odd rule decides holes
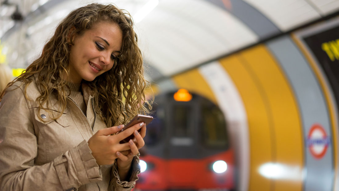
[[[179,89],[156,96],[152,113],[136,190],[234,188],[234,153],[217,105]]]

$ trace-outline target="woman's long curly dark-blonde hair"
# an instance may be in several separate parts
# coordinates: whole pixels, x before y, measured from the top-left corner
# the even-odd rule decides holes
[[[68,76],[66,68],[70,62],[70,48],[74,45],[73,37],[83,34],[99,22],[118,24],[122,32],[122,47],[119,59],[111,70],[91,82],[82,82],[94,93],[95,110],[99,111],[107,127],[126,123],[137,113],[148,113],[151,104],[145,99],[147,81],[143,77],[142,54],[137,44],[138,37],[133,30],[133,19],[128,12],[111,4],[93,3],[69,13],[45,44],[41,56],[6,88],[16,81],[29,84],[33,80],[31,77],[38,74],[41,95],[36,101],[39,103],[39,110],[44,109],[44,104],[49,107],[49,97],[55,93],[61,110],[64,111],[69,87],[62,79],[67,79]],[[74,30],[70,30],[71,28]],[[0,101],[4,92],[0,95]],[[61,114],[62,112],[55,119]]]

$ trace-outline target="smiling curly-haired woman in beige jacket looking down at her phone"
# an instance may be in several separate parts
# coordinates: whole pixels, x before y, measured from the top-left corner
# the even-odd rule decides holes
[[[146,126],[116,133],[147,113],[145,83],[129,14],[72,11],[0,96],[1,190],[131,190]]]

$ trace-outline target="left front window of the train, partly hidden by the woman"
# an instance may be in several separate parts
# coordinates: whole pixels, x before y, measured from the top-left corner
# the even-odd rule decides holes
[[[164,129],[164,109],[154,104],[151,116],[153,116],[154,120],[147,125],[147,134],[144,137],[145,144],[149,146],[157,144],[162,138],[161,132]]]

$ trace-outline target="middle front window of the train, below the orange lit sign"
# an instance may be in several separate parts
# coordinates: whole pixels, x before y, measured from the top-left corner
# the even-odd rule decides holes
[[[189,137],[190,132],[190,114],[191,107],[186,105],[175,105],[173,107],[173,136],[174,137]]]

